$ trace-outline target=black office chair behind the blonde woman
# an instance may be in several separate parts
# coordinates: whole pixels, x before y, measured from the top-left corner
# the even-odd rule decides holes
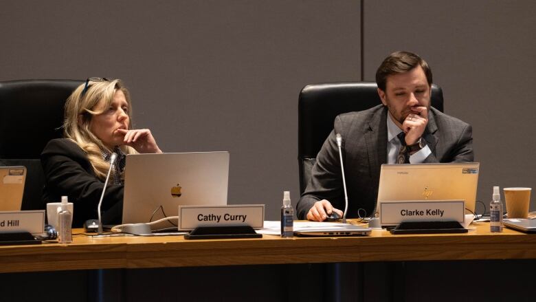
[[[22,210],[45,209],[45,175],[40,155],[52,138],[62,137],[65,100],[81,80],[0,82],[0,164],[26,166]]]

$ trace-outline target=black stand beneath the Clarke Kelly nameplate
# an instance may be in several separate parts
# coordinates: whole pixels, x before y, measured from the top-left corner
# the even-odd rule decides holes
[[[391,234],[467,233],[459,222],[401,222],[390,230]]]

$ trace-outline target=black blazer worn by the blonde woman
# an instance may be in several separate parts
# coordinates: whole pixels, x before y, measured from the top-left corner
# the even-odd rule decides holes
[[[41,153],[45,172],[43,201],[60,202],[62,195],[74,205],[73,227],[80,228],[87,219],[97,219],[97,206],[104,181],[96,177],[84,150],[66,138],[48,142]],[[123,185],[108,182],[102,200],[102,223],[120,224],[123,212]]]

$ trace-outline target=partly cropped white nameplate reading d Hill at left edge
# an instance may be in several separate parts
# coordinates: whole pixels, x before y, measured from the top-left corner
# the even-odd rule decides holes
[[[45,210],[0,211],[0,233],[26,231],[42,234],[45,226]]]

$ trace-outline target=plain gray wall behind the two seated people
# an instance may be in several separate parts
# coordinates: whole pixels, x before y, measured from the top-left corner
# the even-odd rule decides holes
[[[297,100],[421,54],[491,186],[533,186],[533,1],[3,1],[0,80],[122,78],[165,151],[231,152],[229,202],[298,200]],[[361,28],[361,4],[364,26]],[[364,44],[361,45],[361,29]],[[533,204],[533,208],[535,208]]]

